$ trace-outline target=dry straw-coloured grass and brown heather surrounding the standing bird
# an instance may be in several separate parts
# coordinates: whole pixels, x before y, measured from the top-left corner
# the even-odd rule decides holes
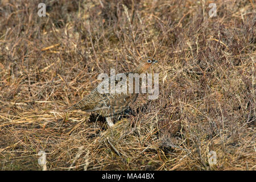
[[[254,0],[214,1],[213,18],[203,0],[40,2],[0,4],[1,170],[41,170],[41,150],[47,170],[255,170]],[[135,116],[109,130],[61,112],[143,55],[160,96]]]

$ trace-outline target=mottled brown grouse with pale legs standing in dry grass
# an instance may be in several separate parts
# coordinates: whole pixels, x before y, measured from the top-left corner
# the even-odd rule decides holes
[[[138,73],[138,75],[141,75],[141,73],[145,73],[147,69],[156,62],[157,61],[151,57],[144,57],[142,63],[139,64],[133,72],[129,73]],[[77,104],[72,105],[65,111],[81,109],[87,112],[95,112],[106,117],[109,126],[113,126],[112,118],[122,114],[123,111],[129,108],[129,104],[133,103],[138,97],[138,93],[128,93],[130,86],[133,86],[133,90],[135,90],[135,82],[133,85],[129,84],[129,73],[125,73],[127,76],[127,93],[100,93],[98,89],[95,88],[88,96],[85,96],[81,101],[77,102]],[[110,85],[110,78],[105,81],[108,81]],[[141,79],[139,82],[141,87]],[[117,84],[118,81],[115,81],[115,85]]]

